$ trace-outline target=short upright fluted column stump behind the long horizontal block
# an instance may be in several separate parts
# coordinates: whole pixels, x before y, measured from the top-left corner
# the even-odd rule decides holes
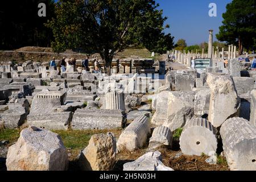
[[[106,93],[106,109],[125,110],[125,99],[122,92]]]

